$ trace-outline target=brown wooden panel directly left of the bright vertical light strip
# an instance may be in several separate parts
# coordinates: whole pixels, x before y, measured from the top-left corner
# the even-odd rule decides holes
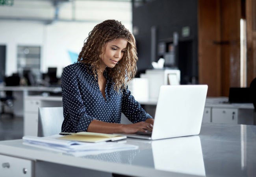
[[[230,87],[240,87],[240,19],[241,0],[221,0],[222,95]]]

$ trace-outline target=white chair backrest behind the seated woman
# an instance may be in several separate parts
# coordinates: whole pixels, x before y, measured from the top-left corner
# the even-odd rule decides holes
[[[63,120],[63,107],[39,107],[37,136],[59,134]]]

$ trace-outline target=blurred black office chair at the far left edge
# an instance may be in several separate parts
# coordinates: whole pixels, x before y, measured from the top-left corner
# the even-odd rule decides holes
[[[6,86],[17,86],[20,85],[20,77],[18,74],[13,74],[12,76],[5,77],[4,82]],[[9,114],[13,118],[13,112],[6,112],[5,107],[12,108],[13,101],[15,98],[13,97],[13,91],[7,90],[4,97],[0,98],[1,101],[1,112],[0,114]]]

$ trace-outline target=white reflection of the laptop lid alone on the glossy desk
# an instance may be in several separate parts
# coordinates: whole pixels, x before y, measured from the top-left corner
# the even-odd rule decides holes
[[[154,141],[152,152],[157,170],[205,176],[199,136]]]

